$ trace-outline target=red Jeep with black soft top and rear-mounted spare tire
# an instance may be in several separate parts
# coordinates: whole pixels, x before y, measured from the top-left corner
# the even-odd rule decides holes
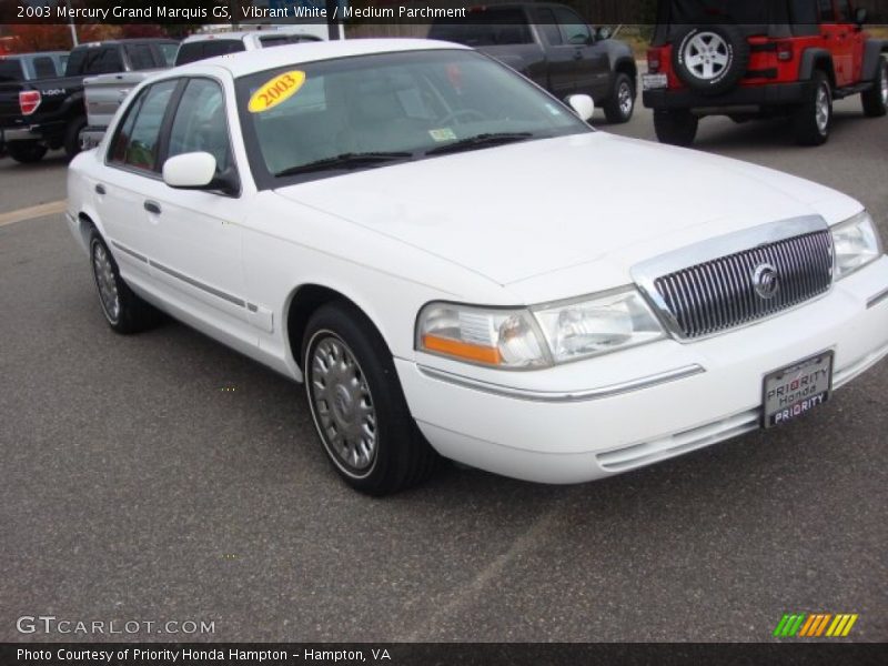
[[[833,100],[888,111],[888,41],[850,0],[660,0],[644,104],[663,143],[690,145],[699,119],[791,118],[796,141],[829,137]]]

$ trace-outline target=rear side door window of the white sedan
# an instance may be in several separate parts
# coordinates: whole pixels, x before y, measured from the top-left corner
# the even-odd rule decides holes
[[[162,81],[143,90],[130,107],[109,153],[109,162],[157,172],[160,129],[179,80]]]

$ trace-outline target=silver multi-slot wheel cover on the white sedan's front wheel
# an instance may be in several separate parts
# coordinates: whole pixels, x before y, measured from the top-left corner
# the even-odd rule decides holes
[[[350,476],[370,474],[376,460],[376,410],[361,365],[331,331],[317,332],[306,359],[309,404],[333,462]]]

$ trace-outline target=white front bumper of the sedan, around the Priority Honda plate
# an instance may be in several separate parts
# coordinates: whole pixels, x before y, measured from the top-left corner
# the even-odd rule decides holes
[[[835,351],[834,387],[840,387],[888,355],[886,290],[882,256],[826,296],[757,325],[546,371],[497,373],[500,384],[511,379],[521,387],[467,377],[470,369],[442,367],[425,355],[418,363],[396,359],[395,366],[411,413],[445,457],[527,481],[578,483],[758,428],[764,376],[821,351]],[[462,370],[463,380],[442,370]]]

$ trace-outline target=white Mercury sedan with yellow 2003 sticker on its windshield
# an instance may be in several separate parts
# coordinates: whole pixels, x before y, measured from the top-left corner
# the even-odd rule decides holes
[[[300,44],[139,87],[69,175],[112,329],[304,382],[352,486],[573,483],[818,408],[888,354],[864,206],[620,139],[471,49]],[[695,183],[688,191],[687,183]]]

